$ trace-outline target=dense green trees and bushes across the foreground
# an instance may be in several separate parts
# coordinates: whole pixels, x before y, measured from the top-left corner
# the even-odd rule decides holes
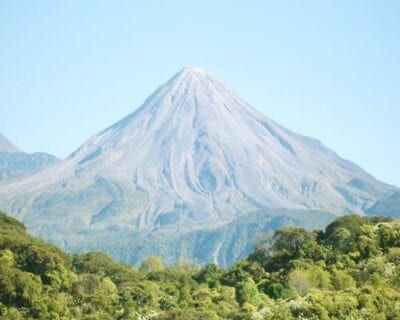
[[[281,228],[231,268],[67,255],[0,214],[0,319],[400,319],[400,221]]]

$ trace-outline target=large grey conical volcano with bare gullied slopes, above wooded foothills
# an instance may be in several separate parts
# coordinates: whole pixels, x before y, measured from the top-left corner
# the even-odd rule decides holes
[[[221,228],[266,208],[364,212],[395,190],[191,67],[69,158],[0,185],[0,208],[68,249],[77,234],[89,247],[110,232]]]

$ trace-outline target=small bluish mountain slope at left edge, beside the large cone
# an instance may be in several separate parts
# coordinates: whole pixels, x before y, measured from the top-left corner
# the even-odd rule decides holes
[[[21,152],[0,133],[0,183],[26,177],[57,161],[47,153]]]

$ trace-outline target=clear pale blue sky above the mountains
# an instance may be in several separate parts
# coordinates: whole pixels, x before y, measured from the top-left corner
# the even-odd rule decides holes
[[[59,157],[185,65],[400,186],[400,1],[0,1],[0,132]]]

